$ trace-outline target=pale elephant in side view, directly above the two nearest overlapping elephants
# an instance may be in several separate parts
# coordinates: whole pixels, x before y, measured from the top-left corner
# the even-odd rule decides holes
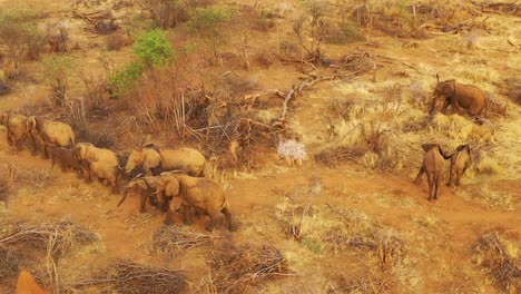
[[[203,176],[205,166],[205,157],[194,148],[159,149],[147,145],[130,153],[125,173],[129,175],[136,168],[142,168],[145,175],[156,176],[161,171],[179,169],[190,176]]]

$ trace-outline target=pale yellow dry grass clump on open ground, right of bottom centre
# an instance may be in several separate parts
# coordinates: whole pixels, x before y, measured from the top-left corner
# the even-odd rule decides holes
[[[387,268],[400,262],[406,251],[403,239],[394,231],[353,210],[285,200],[277,205],[276,217],[286,235],[317,254],[325,249],[334,254],[351,248],[368,249],[381,267]]]

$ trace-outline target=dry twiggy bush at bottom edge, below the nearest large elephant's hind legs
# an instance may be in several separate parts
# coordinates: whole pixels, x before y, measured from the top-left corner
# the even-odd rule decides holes
[[[244,293],[248,286],[288,273],[286,258],[274,246],[224,246],[209,261],[212,281],[218,293]]]

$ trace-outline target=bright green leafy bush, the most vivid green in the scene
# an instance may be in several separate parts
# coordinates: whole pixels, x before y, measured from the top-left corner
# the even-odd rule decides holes
[[[134,53],[146,67],[164,67],[174,61],[176,51],[166,39],[164,30],[150,30],[136,40]]]

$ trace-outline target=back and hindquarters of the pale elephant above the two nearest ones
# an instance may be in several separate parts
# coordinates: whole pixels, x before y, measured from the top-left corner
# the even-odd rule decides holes
[[[190,176],[199,176],[206,166],[206,158],[194,148],[163,149],[160,155],[164,170],[180,169]]]

